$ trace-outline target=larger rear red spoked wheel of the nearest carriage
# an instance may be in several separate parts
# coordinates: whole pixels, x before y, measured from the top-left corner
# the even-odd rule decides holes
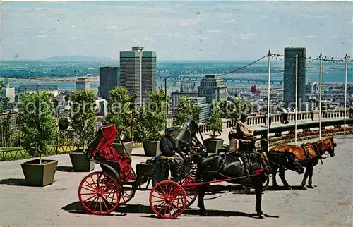
[[[91,214],[109,214],[119,205],[119,185],[109,174],[93,172],[81,180],[78,198]]]

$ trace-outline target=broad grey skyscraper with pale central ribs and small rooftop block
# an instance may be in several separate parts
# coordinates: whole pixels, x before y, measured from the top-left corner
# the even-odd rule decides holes
[[[132,51],[120,52],[120,85],[128,94],[136,90],[139,103],[148,102],[148,94],[156,89],[155,51],[143,51],[143,47],[132,47]]]

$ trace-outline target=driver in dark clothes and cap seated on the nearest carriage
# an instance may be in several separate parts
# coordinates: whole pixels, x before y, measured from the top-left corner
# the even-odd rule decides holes
[[[160,140],[160,152],[160,156],[172,157],[170,172],[172,178],[179,178],[180,174],[183,173],[184,158],[181,157],[179,148],[177,147],[174,138],[174,128],[167,128],[165,130],[165,135],[162,140]]]

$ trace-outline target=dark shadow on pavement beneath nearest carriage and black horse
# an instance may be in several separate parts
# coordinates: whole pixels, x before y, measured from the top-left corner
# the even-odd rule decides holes
[[[64,209],[65,211],[68,211],[69,213],[73,214],[90,214],[88,211],[85,211],[85,209],[82,207],[80,202],[73,202],[71,204],[66,205],[65,207],[62,207],[61,209]],[[150,214],[150,215],[141,215],[142,217],[147,217],[147,218],[157,218],[160,219],[160,217],[156,216],[155,213],[152,211],[150,206],[145,206],[143,204],[126,204],[121,207],[117,207],[114,212],[121,213],[120,215],[114,215],[114,214],[109,214],[110,216],[125,216],[126,214]],[[186,209],[184,213],[182,214],[184,216],[200,216],[200,213],[198,209]],[[244,212],[238,212],[238,211],[221,211],[221,210],[208,210],[208,216],[245,216],[245,217],[251,217],[258,219],[258,216],[256,214],[247,214]],[[273,217],[273,218],[278,218],[279,216],[270,216],[268,214],[265,214],[266,217]]]

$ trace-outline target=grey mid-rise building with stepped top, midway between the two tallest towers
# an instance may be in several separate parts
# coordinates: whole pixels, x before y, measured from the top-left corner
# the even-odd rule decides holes
[[[227,86],[225,80],[218,78],[217,75],[206,75],[198,86],[198,96],[206,97],[206,102],[212,104],[212,101],[227,99]]]

